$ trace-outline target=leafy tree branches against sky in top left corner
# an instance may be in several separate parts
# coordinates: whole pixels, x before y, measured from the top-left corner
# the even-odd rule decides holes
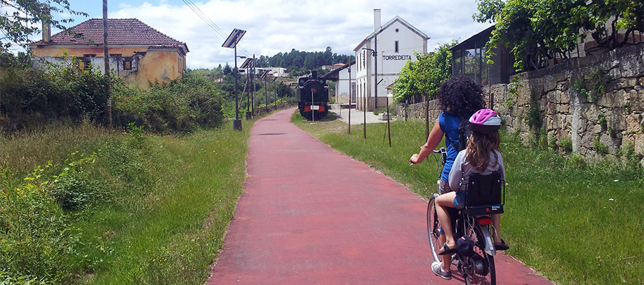
[[[89,16],[87,13],[71,10],[68,0],[0,0],[0,52],[6,51],[12,44],[27,49],[29,36],[40,33],[40,23],[65,30],[64,24],[72,23],[72,18],[57,20],[51,14],[71,14]]]

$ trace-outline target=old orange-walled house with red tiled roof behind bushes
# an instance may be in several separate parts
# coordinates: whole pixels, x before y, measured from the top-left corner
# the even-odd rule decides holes
[[[42,40],[30,45],[35,57],[62,62],[73,56],[80,59],[79,68],[104,70],[102,19],[89,19],[53,36],[50,31],[44,27]],[[186,70],[186,43],[136,18],[109,19],[108,45],[110,69],[127,85],[147,88],[150,83],[167,83]]]

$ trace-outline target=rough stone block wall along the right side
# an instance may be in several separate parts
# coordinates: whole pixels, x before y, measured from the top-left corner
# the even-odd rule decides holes
[[[523,72],[512,83],[484,86],[484,93],[525,143],[540,135],[593,159],[630,141],[644,154],[644,44]],[[425,118],[423,103],[408,110],[409,118]],[[439,112],[430,101],[430,120]],[[404,107],[395,114],[404,116]]]

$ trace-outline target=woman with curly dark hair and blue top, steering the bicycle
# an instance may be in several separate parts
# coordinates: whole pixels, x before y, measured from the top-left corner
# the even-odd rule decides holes
[[[449,172],[454,164],[454,159],[458,154],[458,126],[461,120],[467,120],[470,116],[484,106],[483,91],[481,86],[471,81],[467,77],[455,77],[443,82],[441,89],[438,90],[438,102],[443,112],[438,115],[434,127],[430,132],[427,142],[421,147],[421,151],[412,155],[410,163],[421,163],[427,158],[432,150],[438,146],[445,135],[445,148],[447,149],[447,160],[441,172],[441,180],[438,187],[440,193],[452,191],[447,183]],[[445,242],[445,236],[441,235],[441,241]],[[449,273],[449,264],[451,256],[443,257],[444,267]],[[451,273],[449,273],[451,278]]]

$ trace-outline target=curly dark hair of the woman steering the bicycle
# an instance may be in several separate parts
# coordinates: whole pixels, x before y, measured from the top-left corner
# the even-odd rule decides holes
[[[482,87],[467,77],[454,77],[441,84],[438,102],[451,116],[470,115],[483,109]]]

